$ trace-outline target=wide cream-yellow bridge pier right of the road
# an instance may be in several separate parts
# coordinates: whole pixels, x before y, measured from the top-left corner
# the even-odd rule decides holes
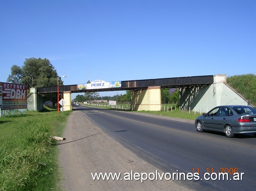
[[[132,111],[160,111],[161,89],[158,87],[148,87],[147,89],[132,90]]]

